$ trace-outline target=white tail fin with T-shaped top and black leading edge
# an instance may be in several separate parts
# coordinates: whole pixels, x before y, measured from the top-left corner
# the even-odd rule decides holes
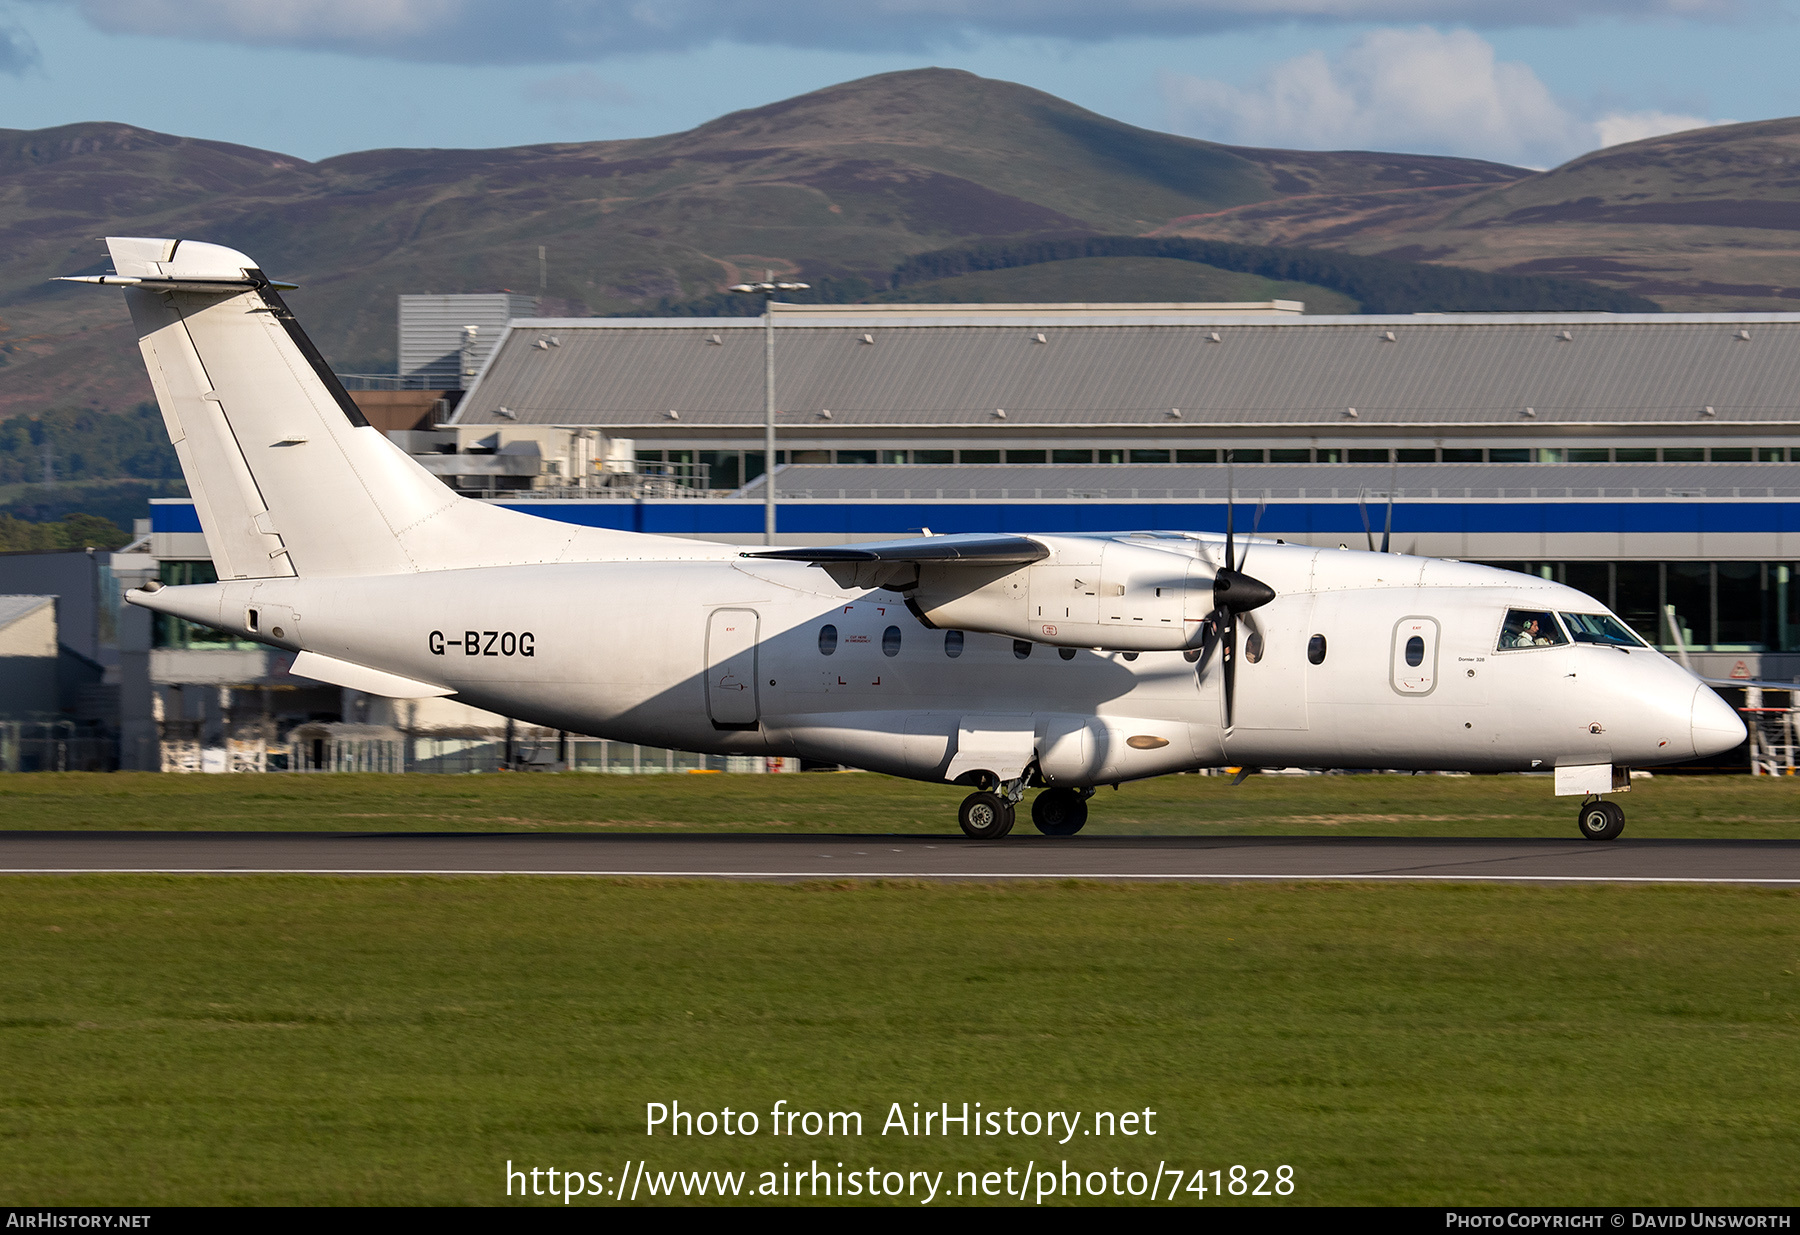
[[[401,574],[643,553],[452,493],[373,428],[257,265],[221,245],[108,238],[220,578]],[[700,549],[693,542],[671,542]]]

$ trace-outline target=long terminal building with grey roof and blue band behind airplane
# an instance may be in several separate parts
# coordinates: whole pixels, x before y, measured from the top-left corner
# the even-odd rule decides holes
[[[1363,547],[1391,518],[1397,551],[1571,583],[1708,675],[1800,677],[1800,315],[1300,308],[778,304],[778,542],[1222,531],[1235,499],[1240,529]],[[371,421],[479,500],[761,544],[763,347],[761,319],[515,317],[464,391]],[[209,576],[191,504],[144,533],[110,576]],[[121,697],[162,740],[135,765],[697,760],[351,697],[142,625],[117,672],[148,681]]]

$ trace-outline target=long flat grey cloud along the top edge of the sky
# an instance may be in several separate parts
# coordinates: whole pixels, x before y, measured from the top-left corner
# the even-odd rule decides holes
[[[1777,0],[34,0],[103,31],[437,63],[574,63],[718,41],[929,50],[972,38],[1105,41],[1280,23],[1573,25],[1721,20]]]

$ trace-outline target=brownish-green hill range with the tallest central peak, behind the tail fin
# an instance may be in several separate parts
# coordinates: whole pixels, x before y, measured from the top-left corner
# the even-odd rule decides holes
[[[691,301],[763,268],[882,286],[913,254],[1136,234],[1314,193],[1510,184],[1467,158],[1265,151],[1134,128],[967,72],[884,74],[684,133],[304,162],[124,124],[0,131],[0,414],[131,407],[148,383],[104,234],[191,236],[295,279],[340,369],[394,362],[394,295],[536,290],[587,315]]]

